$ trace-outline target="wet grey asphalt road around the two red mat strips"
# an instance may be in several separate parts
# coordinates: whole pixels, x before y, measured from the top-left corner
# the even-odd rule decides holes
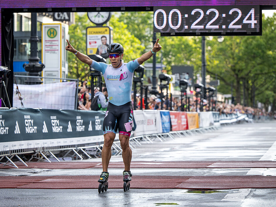
[[[132,150],[133,161],[276,160],[276,121],[222,126],[215,132],[143,143]],[[83,160],[86,162],[91,160]],[[92,161],[100,161],[100,158]],[[112,156],[111,162],[122,161]],[[101,169],[1,169],[0,176],[99,175]],[[109,169],[121,175],[122,169]],[[273,175],[275,168],[132,169],[134,175],[210,176]],[[0,189],[0,206],[275,206],[276,189]]]

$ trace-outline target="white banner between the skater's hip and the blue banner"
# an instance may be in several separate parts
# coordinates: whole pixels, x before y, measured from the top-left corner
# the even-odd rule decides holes
[[[134,136],[162,133],[160,111],[158,110],[134,110],[136,128]]]

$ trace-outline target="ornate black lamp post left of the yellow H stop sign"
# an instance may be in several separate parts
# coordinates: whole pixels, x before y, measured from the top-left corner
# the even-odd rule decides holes
[[[29,72],[29,76],[34,76],[36,78],[28,78],[25,83],[28,85],[32,84],[41,84],[41,78],[39,78],[39,73],[45,67],[44,64],[40,64],[38,61],[40,60],[37,52],[37,42],[39,41],[37,36],[37,13],[31,13],[31,53],[29,58],[29,63],[24,63],[24,69]]]

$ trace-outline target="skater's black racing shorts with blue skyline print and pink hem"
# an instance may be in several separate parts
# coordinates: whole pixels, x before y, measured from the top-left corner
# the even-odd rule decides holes
[[[105,119],[103,121],[103,134],[113,132],[130,136],[133,125],[133,110],[131,101],[128,103],[116,106],[108,103]]]

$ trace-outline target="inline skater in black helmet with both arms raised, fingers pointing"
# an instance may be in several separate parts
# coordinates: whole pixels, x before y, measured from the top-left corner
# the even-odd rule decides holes
[[[129,147],[129,137],[132,131],[133,109],[131,103],[131,89],[133,73],[144,61],[152,57],[153,54],[161,50],[161,45],[156,40],[151,51],[144,53],[141,57],[128,63],[123,63],[124,48],[119,43],[111,43],[107,47],[107,53],[110,65],[103,62],[96,62],[87,55],[78,52],[66,40],[65,50],[73,52],[76,57],[102,72],[109,95],[109,104],[103,121],[104,145],[102,147],[102,174],[98,182],[105,183],[108,180],[108,164],[111,158],[111,146],[115,139],[117,130],[119,130],[119,140],[122,147],[122,158],[124,161],[123,181],[131,181],[130,162],[132,151]],[[129,188],[129,186],[128,186]],[[124,188],[125,190],[125,188]],[[103,191],[102,191],[103,192]],[[100,193],[100,189],[99,189]]]

